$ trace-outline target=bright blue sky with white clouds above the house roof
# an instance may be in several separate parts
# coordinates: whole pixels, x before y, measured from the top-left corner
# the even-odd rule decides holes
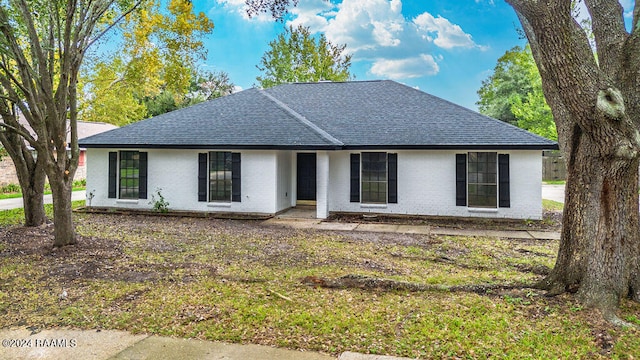
[[[497,59],[526,43],[503,0],[300,0],[283,23],[248,18],[244,0],[194,4],[215,24],[202,66],[229,73],[243,89],[256,84],[269,42],[286,26],[302,24],[347,45],[355,80],[392,79],[475,110],[476,92]]]

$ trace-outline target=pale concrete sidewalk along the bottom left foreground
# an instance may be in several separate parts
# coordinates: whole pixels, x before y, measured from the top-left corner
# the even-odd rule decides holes
[[[331,360],[331,355],[262,345],[133,335],[115,330],[1,329],[0,359],[47,360]],[[401,360],[392,356],[344,352],[338,360]]]

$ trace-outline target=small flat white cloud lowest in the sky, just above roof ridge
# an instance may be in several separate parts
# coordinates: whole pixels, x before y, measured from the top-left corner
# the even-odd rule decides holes
[[[371,73],[393,80],[435,75],[440,71],[433,56],[422,54],[407,59],[378,59],[371,66]]]

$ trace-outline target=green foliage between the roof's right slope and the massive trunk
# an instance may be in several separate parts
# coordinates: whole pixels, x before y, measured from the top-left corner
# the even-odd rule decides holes
[[[558,139],[529,45],[524,49],[516,46],[500,57],[493,74],[482,82],[478,95],[481,113],[547,139]]]

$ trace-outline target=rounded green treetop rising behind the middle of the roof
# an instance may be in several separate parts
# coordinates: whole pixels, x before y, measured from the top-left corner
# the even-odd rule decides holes
[[[352,78],[351,55],[343,55],[346,45],[334,45],[324,34],[316,39],[307,27],[291,26],[269,46],[257,66],[264,74],[256,78],[263,88],[291,82]]]

